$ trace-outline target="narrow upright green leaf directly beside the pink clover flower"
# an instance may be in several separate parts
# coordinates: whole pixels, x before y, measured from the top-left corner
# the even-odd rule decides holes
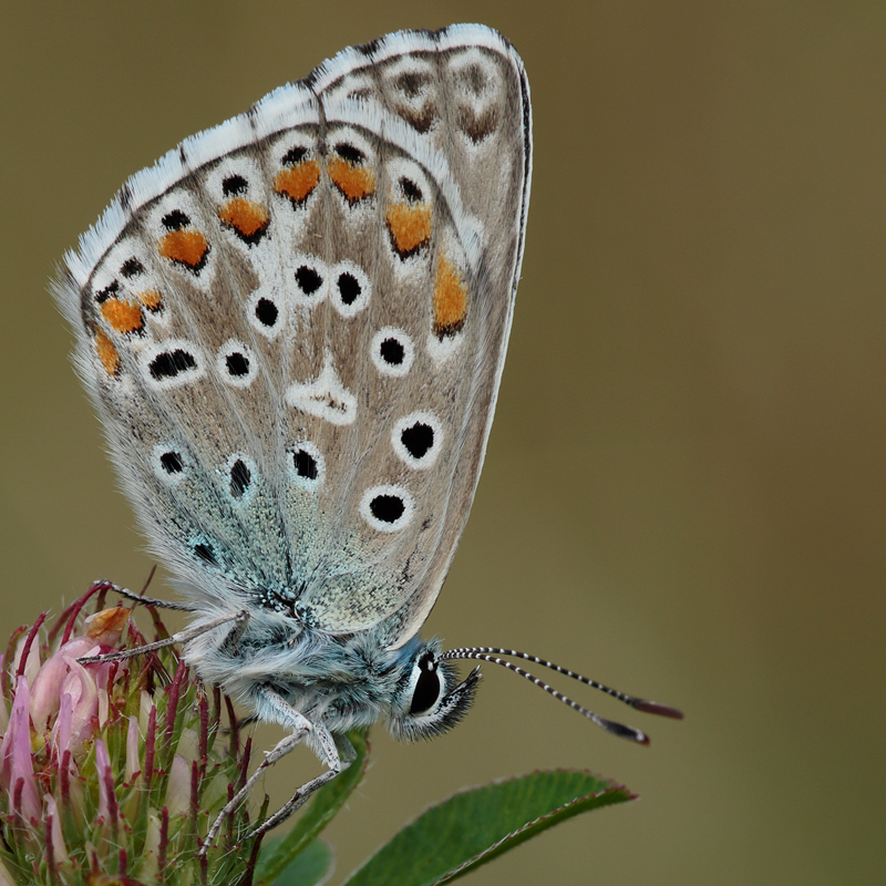
[[[349,732],[348,740],[357,751],[357,759],[311,797],[302,816],[282,839],[264,848],[254,880],[256,886],[276,883],[276,877],[316,839],[362,781],[369,742],[362,732]]]

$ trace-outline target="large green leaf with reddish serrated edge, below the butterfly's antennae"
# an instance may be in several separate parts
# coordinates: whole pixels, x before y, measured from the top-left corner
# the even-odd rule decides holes
[[[467,789],[406,825],[346,886],[434,886],[573,815],[633,799],[626,787],[576,770]]]

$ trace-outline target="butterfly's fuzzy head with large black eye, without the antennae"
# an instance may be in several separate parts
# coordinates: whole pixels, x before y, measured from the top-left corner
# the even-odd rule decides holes
[[[401,679],[394,692],[389,728],[403,741],[447,732],[467,713],[480,681],[480,668],[461,682],[455,666],[441,658],[437,640],[413,640],[398,661]]]

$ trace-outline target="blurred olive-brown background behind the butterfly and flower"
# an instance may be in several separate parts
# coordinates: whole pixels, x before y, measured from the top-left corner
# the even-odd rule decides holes
[[[475,886],[883,883],[882,3],[6,2],[0,635],[152,565],[47,292],[63,250],[185,136],[348,44],[463,20],[525,61],[535,174],[486,468],[425,633],[687,719],[560,687],[648,729],[638,748],[488,666],[450,735],[374,730],[333,883],[429,803],[550,766],[642,799]],[[293,756],[276,802],[317,771]]]

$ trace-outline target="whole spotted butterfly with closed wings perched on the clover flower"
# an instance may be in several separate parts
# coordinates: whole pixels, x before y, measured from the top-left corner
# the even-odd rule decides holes
[[[454,659],[646,741],[499,657],[595,681],[419,636],[483,465],[530,177],[514,48],[401,31],[183,142],[65,256],[76,368],[185,602],[121,593],[187,610],[173,639],[199,677],[287,729],[229,805],[301,742],[326,766],[260,830],[348,764],[348,730],[457,723],[480,674]]]

